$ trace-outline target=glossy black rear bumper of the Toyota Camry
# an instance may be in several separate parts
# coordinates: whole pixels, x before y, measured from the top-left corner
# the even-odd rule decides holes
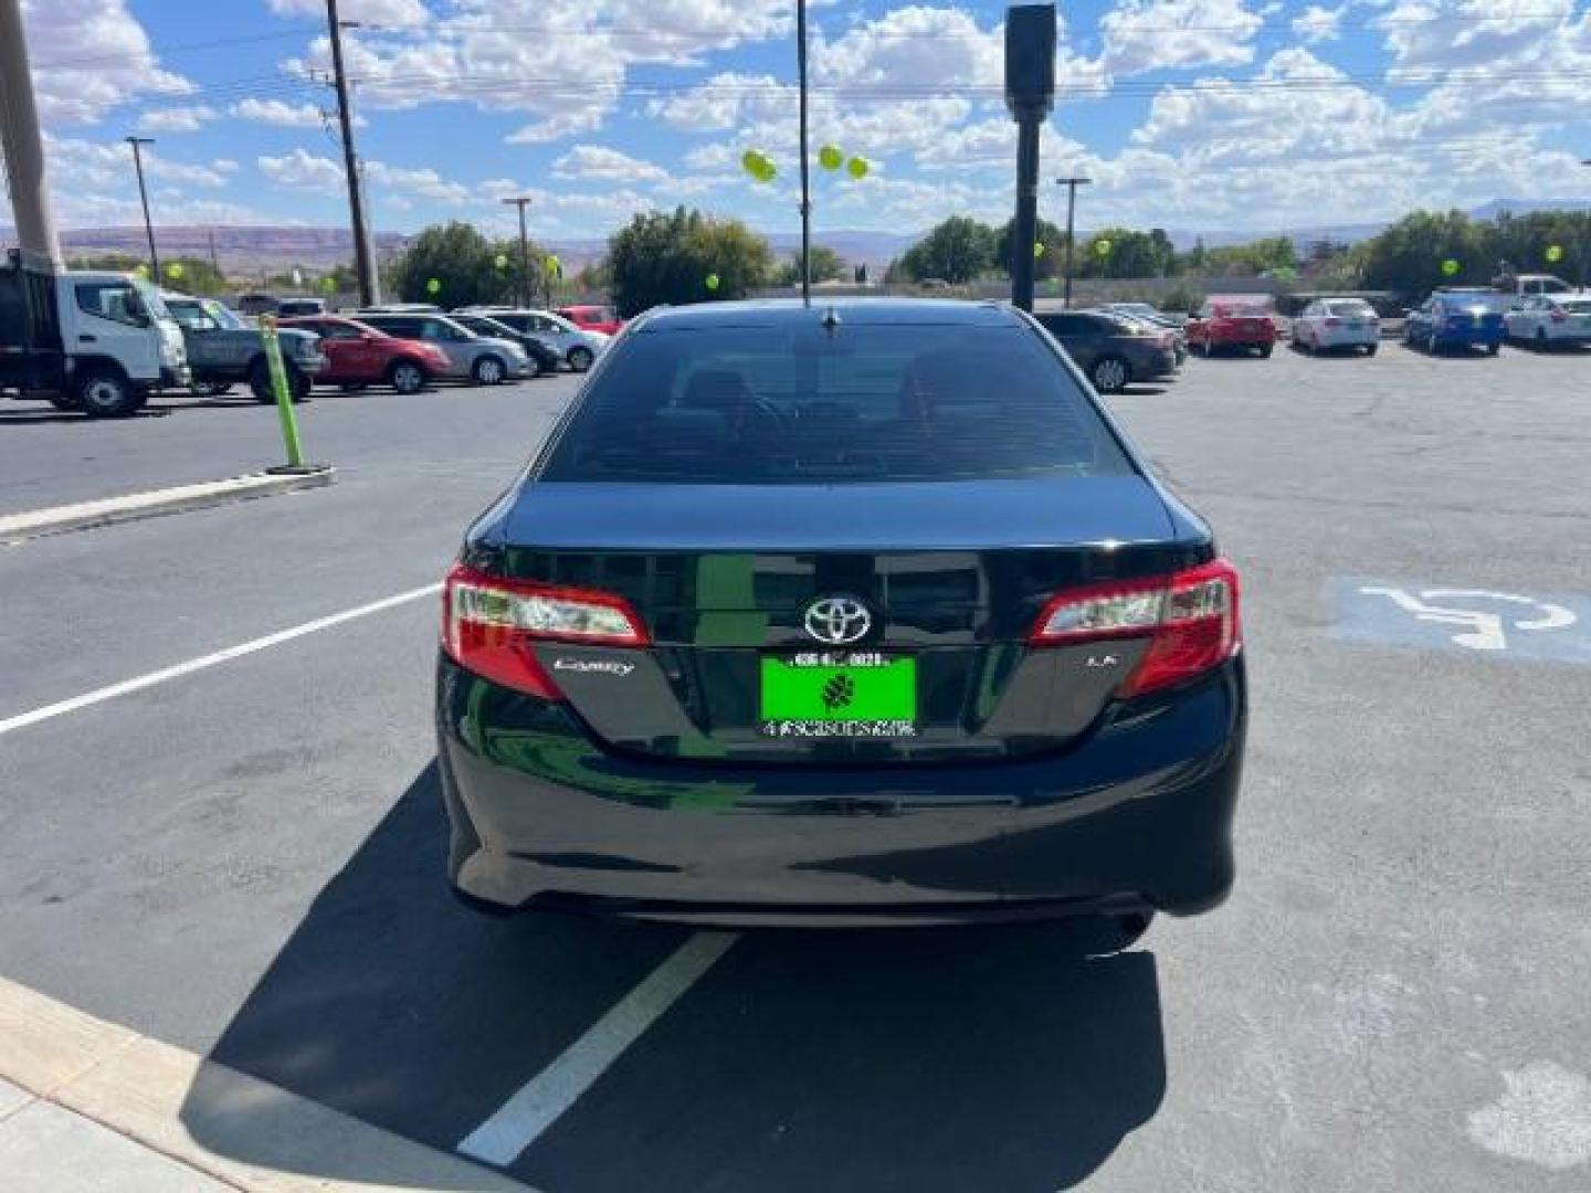
[[[444,659],[449,876],[496,910],[714,924],[1190,915],[1231,886],[1244,701],[1239,662],[1115,709],[1066,754],[910,768],[695,765],[606,752],[562,705]]]

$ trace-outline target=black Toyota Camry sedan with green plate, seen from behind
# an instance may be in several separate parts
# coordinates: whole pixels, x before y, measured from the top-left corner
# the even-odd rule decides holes
[[[969,923],[1219,903],[1238,574],[998,304],[635,320],[447,576],[487,910]]]

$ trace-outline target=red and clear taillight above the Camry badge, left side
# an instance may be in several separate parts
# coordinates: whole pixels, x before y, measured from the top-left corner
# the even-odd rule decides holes
[[[536,662],[538,641],[646,646],[628,601],[606,592],[506,581],[455,563],[442,589],[442,649],[468,671],[520,692],[560,698]]]

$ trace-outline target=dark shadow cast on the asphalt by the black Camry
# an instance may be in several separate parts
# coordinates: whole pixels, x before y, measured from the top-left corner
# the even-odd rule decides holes
[[[434,764],[317,896],[208,1059],[439,1148],[689,935],[445,892]],[[1055,1190],[1165,1094],[1153,956],[1083,924],[749,932],[509,1171],[557,1190]],[[204,1072],[204,1071],[200,1071]],[[326,1179],[202,1077],[207,1148]]]

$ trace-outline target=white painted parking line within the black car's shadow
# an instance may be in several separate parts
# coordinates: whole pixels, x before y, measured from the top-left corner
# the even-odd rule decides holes
[[[690,937],[495,1115],[465,1136],[458,1150],[488,1164],[512,1164],[737,938],[735,932]]]

